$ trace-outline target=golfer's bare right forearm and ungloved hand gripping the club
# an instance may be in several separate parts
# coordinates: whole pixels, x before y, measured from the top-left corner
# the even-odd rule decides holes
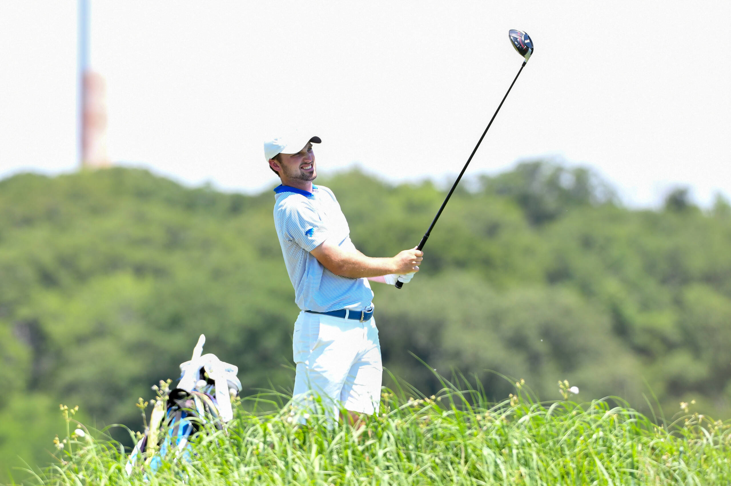
[[[359,251],[343,250],[329,240],[311,250],[311,254],[333,274],[352,279],[419,271],[418,264],[424,255],[420,250],[413,248],[399,252],[391,258],[371,258]]]

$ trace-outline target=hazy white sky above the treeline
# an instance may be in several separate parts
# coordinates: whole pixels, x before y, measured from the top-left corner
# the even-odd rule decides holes
[[[0,177],[76,166],[76,1],[0,3]],[[320,171],[469,174],[538,156],[594,167],[627,204],[731,196],[731,1],[92,0],[118,163],[260,190],[262,136],[317,128]]]

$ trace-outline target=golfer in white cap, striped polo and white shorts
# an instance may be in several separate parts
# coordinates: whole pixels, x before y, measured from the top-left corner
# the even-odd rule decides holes
[[[264,143],[265,158],[281,180],[274,189],[274,225],[302,309],[292,336],[292,398],[301,404],[314,392],[328,415],[346,409],[354,423],[360,414],[376,413],[381,397],[381,345],[368,280],[408,282],[423,252],[369,258],[356,250],[333,191],[312,183],[317,177],[312,147],[321,142],[294,132]]]

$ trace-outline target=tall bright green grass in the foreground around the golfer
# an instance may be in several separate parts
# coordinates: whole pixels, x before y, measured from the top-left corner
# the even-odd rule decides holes
[[[225,431],[207,426],[192,460],[124,471],[129,450],[65,413],[57,461],[42,485],[728,485],[731,424],[691,413],[651,420],[618,398],[536,402],[526,386],[500,403],[444,382],[438,396],[383,390],[379,415],[333,423],[276,394],[239,404]],[[462,387],[464,388],[464,387]],[[561,387],[565,398],[568,384]],[[414,398],[417,397],[417,398]],[[615,406],[612,404],[621,404]],[[245,404],[246,405],[246,400]],[[249,411],[246,411],[249,408]],[[306,420],[306,423],[300,423]],[[72,433],[81,427],[83,436]]]

